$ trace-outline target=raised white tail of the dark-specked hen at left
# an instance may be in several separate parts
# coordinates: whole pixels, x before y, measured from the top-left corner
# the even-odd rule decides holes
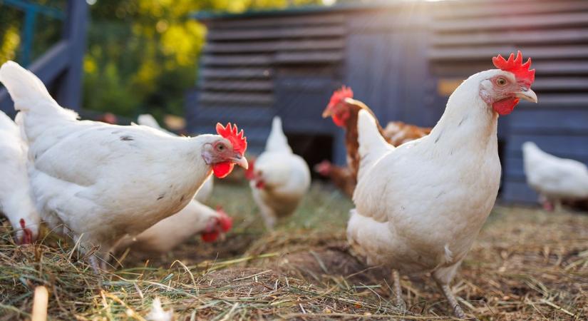
[[[43,82],[31,71],[14,61],[7,61],[0,67],[0,82],[8,90],[16,111],[51,118],[59,116],[59,118],[76,119],[78,117],[73,111],[61,108],[51,98]]]

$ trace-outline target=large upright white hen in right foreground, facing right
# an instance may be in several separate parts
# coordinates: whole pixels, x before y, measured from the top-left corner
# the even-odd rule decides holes
[[[519,99],[537,102],[535,70],[511,55],[499,69],[470,76],[450,96],[430,135],[397,148],[383,140],[376,120],[360,111],[361,163],[347,236],[369,264],[400,272],[431,272],[455,315],[465,314],[449,283],[495,203],[500,184],[498,116]]]

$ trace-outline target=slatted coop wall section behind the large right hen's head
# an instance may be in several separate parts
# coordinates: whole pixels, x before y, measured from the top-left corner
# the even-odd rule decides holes
[[[500,2],[500,1],[499,1]],[[535,141],[557,156],[588,163],[588,1],[441,1],[431,10],[430,71],[465,78],[493,68],[491,56],[520,49],[537,71],[539,101],[500,119],[502,199],[533,202],[521,145]],[[505,126],[507,125],[507,126]]]

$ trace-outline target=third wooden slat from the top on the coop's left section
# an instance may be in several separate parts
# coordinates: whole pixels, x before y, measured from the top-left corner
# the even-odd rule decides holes
[[[342,49],[345,46],[343,39],[324,40],[297,40],[297,41],[248,41],[244,43],[215,43],[210,42],[205,46],[205,53],[253,53],[274,51],[305,51],[305,50],[329,50]]]

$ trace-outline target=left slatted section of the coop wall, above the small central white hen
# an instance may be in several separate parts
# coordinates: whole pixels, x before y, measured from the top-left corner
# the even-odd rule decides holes
[[[335,66],[344,59],[343,22],[333,13],[207,21],[200,81],[188,99],[189,129],[210,132],[217,121],[233,121],[246,131],[251,153],[262,151],[274,115],[288,119],[286,131],[307,131],[309,102],[324,107],[328,96],[322,96],[332,91]],[[324,91],[318,99],[317,88]],[[316,119],[322,121],[320,110]]]

